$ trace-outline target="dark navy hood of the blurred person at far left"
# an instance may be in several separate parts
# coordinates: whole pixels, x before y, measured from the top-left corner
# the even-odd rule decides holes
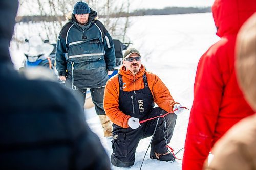
[[[0,15],[5,16],[5,19],[0,22],[0,63],[6,61],[11,63],[11,58],[9,54],[9,44],[10,40],[12,39],[17,9],[17,0],[0,1]]]

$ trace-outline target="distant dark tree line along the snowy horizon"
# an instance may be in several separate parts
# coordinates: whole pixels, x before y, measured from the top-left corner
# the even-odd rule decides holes
[[[211,7],[166,7],[163,9],[139,9],[133,12],[118,12],[118,13],[111,13],[109,16],[106,15],[99,15],[100,18],[108,18],[108,17],[129,17],[129,16],[144,16],[144,15],[173,15],[173,14],[190,14],[190,13],[206,13],[211,12]],[[52,21],[59,21],[65,20],[65,16],[17,16],[17,22],[52,22]]]

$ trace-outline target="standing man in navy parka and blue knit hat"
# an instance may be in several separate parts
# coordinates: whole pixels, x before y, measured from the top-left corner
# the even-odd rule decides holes
[[[104,136],[112,136],[112,126],[103,109],[104,86],[115,68],[112,38],[97,20],[97,12],[86,2],[74,5],[72,16],[60,31],[56,47],[59,78],[75,91],[84,106],[86,90],[91,91]]]

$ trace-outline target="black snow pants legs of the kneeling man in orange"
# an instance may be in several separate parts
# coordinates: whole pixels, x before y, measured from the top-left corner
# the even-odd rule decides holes
[[[156,117],[167,113],[159,107],[154,108],[145,119]],[[166,128],[164,128],[164,118],[166,121]],[[164,154],[167,152],[166,142],[169,143],[173,136],[174,127],[176,124],[177,115],[170,113],[164,118],[160,118],[153,141],[151,143],[151,149],[157,153]],[[138,147],[139,141],[146,137],[153,135],[157,119],[150,120],[140,124],[137,129],[122,128],[113,124],[113,140],[112,148],[113,153],[111,155],[111,163],[117,167],[129,167],[134,164],[135,152]],[[166,137],[166,140],[165,138]]]

